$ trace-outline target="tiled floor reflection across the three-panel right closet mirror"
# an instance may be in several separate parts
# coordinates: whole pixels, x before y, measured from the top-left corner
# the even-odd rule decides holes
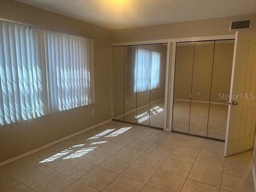
[[[209,122],[208,122],[209,113]],[[202,102],[174,101],[173,130],[225,139],[228,105]],[[207,130],[208,124],[208,130]],[[189,127],[189,128],[188,128]]]

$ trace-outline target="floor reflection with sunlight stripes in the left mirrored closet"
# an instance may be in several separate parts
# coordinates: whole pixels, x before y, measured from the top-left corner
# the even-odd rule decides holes
[[[123,117],[118,120],[123,120]],[[126,113],[124,121],[164,128],[164,99]]]

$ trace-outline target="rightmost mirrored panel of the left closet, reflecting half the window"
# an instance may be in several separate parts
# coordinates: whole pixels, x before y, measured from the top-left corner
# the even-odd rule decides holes
[[[167,43],[152,44],[150,75],[150,126],[164,128]]]

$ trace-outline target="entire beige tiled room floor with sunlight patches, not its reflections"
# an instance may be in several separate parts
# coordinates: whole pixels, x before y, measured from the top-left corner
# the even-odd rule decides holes
[[[253,192],[252,150],[109,122],[0,168],[1,192]]]

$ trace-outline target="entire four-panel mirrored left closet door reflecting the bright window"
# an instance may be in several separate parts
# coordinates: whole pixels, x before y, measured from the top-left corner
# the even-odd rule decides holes
[[[167,44],[112,48],[113,119],[164,128]]]

